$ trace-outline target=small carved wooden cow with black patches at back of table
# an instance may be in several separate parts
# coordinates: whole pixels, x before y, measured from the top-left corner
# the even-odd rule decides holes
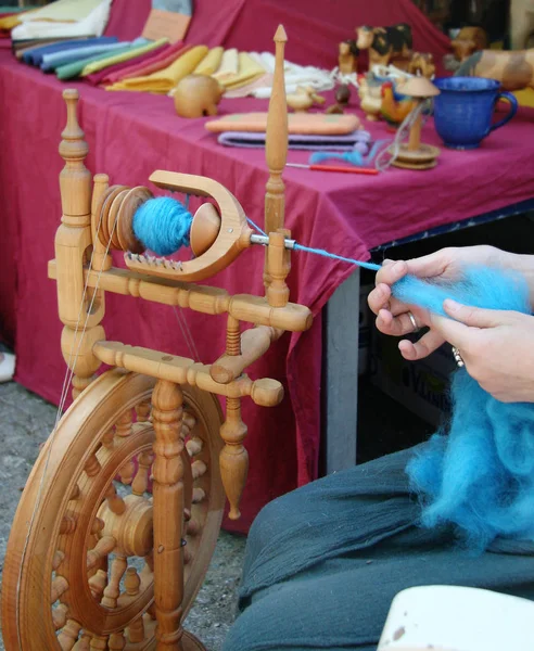
[[[369,27],[364,25],[356,28],[358,50],[369,50],[369,67],[387,65],[395,62],[405,69],[412,48],[411,27],[399,23],[391,27]]]

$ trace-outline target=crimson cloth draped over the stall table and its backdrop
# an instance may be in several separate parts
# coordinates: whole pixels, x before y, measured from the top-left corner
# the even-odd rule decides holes
[[[115,0],[109,31],[138,35],[149,4],[150,0],[136,0],[136,13],[130,11],[131,2]],[[346,25],[364,18],[374,24],[408,20],[415,26],[417,47],[440,55],[440,35],[410,0],[372,4],[332,0],[314,4],[313,17],[309,3],[295,0],[291,10],[283,4],[282,0],[200,0],[188,40],[271,50],[276,24],[283,21],[290,37],[289,60],[330,66],[335,63],[330,61],[332,43],[346,37]],[[138,5],[144,5],[142,15]],[[217,145],[215,137],[204,130],[204,120],[178,118],[169,98],[106,92],[85,84],[68,86],[80,90],[80,122],[91,150],[87,165],[93,173],[105,171],[112,182],[129,186],[147,183],[157,168],[205,175],[228,187],[246,214],[263,225],[268,175],[262,151]],[[16,339],[16,380],[52,401],[58,401],[65,371],[55,284],[47,279],[61,210],[58,175],[63,162],[58,144],[65,124],[64,88],[53,77],[17,63],[9,51],[0,51],[0,331],[7,341]],[[220,104],[220,113],[266,108],[267,103],[258,100]],[[479,151],[444,151],[440,165],[425,173],[394,169],[379,177],[360,177],[287,169],[287,225],[302,243],[364,259],[380,243],[532,197],[533,122],[534,114],[522,111]],[[379,138],[386,135],[383,125],[373,125],[371,130]],[[431,124],[423,129],[423,140],[438,144]],[[289,155],[294,162],[306,157],[301,152]],[[260,293],[263,259],[262,251],[246,251],[209,282],[232,293]],[[343,263],[295,254],[292,301],[308,305],[317,316],[352,271]],[[202,360],[216,359],[224,349],[224,319],[189,311],[186,318]],[[165,306],[109,295],[104,327],[109,340],[190,355],[175,314]],[[243,401],[251,470],[243,519],[227,523],[229,528],[246,528],[264,503],[317,475],[320,318],[302,336],[284,335],[251,369],[252,376],[264,374],[284,383],[287,399],[276,409]]]

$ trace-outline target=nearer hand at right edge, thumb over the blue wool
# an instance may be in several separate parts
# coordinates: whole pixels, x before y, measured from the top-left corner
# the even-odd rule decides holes
[[[431,328],[456,346],[468,373],[501,403],[534,403],[534,317],[445,301],[452,318],[432,315]]]

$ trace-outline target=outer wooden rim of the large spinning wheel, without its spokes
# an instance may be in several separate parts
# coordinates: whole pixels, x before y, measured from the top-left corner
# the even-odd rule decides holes
[[[23,549],[28,532],[28,514],[33,512],[38,499],[39,484],[46,468],[52,437],[49,438],[41,451],[28,478],[27,489],[23,494],[23,499],[15,514],[12,534],[8,544],[2,589],[2,628],[8,650],[60,649],[52,622],[52,602],[50,599],[43,598],[43,596],[51,593],[52,572],[50,569],[60,540],[61,518],[54,516],[53,527],[47,524],[47,521],[50,520],[50,508],[53,506],[54,500],[58,503],[58,492],[63,490],[65,497],[62,498],[61,509],[58,512],[61,514],[65,512],[66,505],[71,499],[71,493],[65,490],[65,486],[74,487],[79,480],[79,472],[76,472],[76,470],[84,467],[91,450],[94,449],[97,444],[96,433],[110,429],[116,422],[117,405],[120,405],[122,412],[134,408],[140,401],[150,398],[154,385],[155,380],[152,378],[125,373],[115,369],[104,373],[93,382],[71,406],[53,437],[53,454],[49,459],[44,488],[38,503],[33,527],[29,531],[27,553],[23,559]],[[214,456],[218,456],[218,448],[220,447],[218,433],[216,437],[213,436],[215,414],[218,423],[221,419],[218,400],[211,394],[202,394],[199,390],[189,387],[185,387],[185,397],[188,405],[191,404],[195,417],[204,421],[199,426],[204,427],[209,446],[208,449],[206,448],[206,455],[213,460]],[[211,401],[211,405],[207,400]],[[206,405],[208,405],[207,409]],[[199,409],[206,409],[208,413],[203,413]],[[150,443],[147,443],[147,435],[149,435],[149,438],[150,436],[153,437],[151,424],[139,423],[135,426],[137,426],[137,431],[130,434],[126,443],[130,449],[127,454],[130,456],[139,454],[138,441],[144,441],[143,446],[147,448],[150,445]],[[84,455],[73,455],[73,448],[75,446],[79,448],[85,439],[92,444],[92,448],[91,445],[87,445],[85,448],[87,451]],[[111,452],[112,456],[114,454],[115,451]],[[199,561],[196,561],[196,558],[194,559],[189,578],[185,585],[185,611],[189,610],[194,596],[200,589],[207,570],[207,562],[204,562],[204,566],[200,566],[199,563],[202,564],[206,558],[207,560],[211,558],[223,518],[224,492],[220,485],[218,463],[213,465],[211,469],[213,474],[209,474],[208,477],[213,489],[209,490],[206,497],[206,518],[199,536],[199,546],[202,551],[199,554]],[[113,464],[109,464],[109,468],[113,468]],[[187,476],[185,482],[187,483]],[[103,486],[105,485],[104,483]],[[93,505],[91,518],[98,511],[98,502],[99,500],[96,500]],[[80,526],[80,532],[85,531],[84,526]],[[85,550],[81,556],[84,553]],[[18,578],[21,578],[20,589],[17,588]],[[88,591],[90,596],[87,580],[85,582],[84,591]],[[115,622],[117,622],[118,616],[123,617],[117,625],[113,626],[110,621],[101,629],[97,627],[88,627],[88,629],[96,635],[101,633],[102,635],[109,635],[113,629],[120,630],[124,628],[125,614],[131,612],[135,615],[137,608],[137,613],[140,615],[150,605],[153,599],[153,589],[149,589],[149,592],[150,595],[144,595],[141,591],[136,604],[128,604],[125,609],[120,609],[118,614],[113,614]],[[73,593],[69,595],[68,602],[72,601],[73,605],[76,604],[76,590],[73,590]],[[96,609],[103,608],[97,601],[94,601],[94,607]],[[36,621],[39,622],[38,625],[36,625]],[[127,646],[126,649],[149,649],[151,643],[148,641],[148,646],[144,646],[144,642],[141,646]]]

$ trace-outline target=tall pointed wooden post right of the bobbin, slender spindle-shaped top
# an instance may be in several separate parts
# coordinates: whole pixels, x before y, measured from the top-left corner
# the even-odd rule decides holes
[[[285,100],[285,80],[283,74],[284,48],[288,41],[285,29],[280,25],[275,34],[276,63],[272,90],[267,117],[265,159],[269,169],[269,180],[265,194],[265,232],[267,234],[283,228],[285,186],[282,180],[288,158],[288,104]],[[265,254],[264,284],[270,284],[268,253]]]

